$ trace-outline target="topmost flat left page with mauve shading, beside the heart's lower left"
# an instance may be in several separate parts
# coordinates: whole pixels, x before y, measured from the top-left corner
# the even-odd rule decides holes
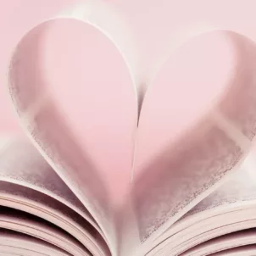
[[[9,139],[0,149],[0,181],[46,193],[74,209],[102,233],[92,215],[27,138]]]

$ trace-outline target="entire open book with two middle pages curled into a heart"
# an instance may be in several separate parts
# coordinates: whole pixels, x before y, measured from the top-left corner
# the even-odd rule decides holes
[[[26,137],[1,143],[0,254],[256,254],[256,165],[248,155],[256,132],[254,43],[214,31],[190,44],[203,51],[200,43],[224,35],[236,65],[218,101],[175,131],[170,84],[182,54],[166,60],[141,96],[114,42],[76,20],[87,36],[81,55],[89,79],[79,87],[78,75],[78,107],[64,109],[61,100],[74,95],[54,97],[41,76],[51,22],[58,27],[48,21],[22,38],[9,65],[8,92]],[[191,111],[188,124],[193,107],[176,109]]]

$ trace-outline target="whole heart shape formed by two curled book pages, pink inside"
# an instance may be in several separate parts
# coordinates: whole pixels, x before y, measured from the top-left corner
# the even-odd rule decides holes
[[[248,152],[255,57],[254,43],[237,33],[196,36],[166,58],[138,122],[132,75],[114,42],[93,25],[53,19],[19,42],[8,88],[28,136],[99,223],[109,194],[123,196],[135,171],[131,195],[145,242]]]

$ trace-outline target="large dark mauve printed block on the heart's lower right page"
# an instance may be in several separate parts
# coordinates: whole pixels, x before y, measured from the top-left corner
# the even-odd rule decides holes
[[[159,235],[220,186],[241,159],[242,148],[209,120],[154,159],[132,191],[141,242],[156,231]]]

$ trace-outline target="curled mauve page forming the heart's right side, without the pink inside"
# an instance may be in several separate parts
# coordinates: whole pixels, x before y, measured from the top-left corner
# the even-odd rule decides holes
[[[255,45],[233,32],[226,36],[236,49],[237,66],[225,96],[183,139],[143,166],[134,184],[134,215],[145,248],[223,184],[252,146]]]

